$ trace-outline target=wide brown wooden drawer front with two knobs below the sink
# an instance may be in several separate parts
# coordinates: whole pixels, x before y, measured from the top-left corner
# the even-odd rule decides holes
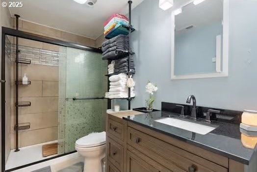
[[[131,127],[128,127],[128,144],[165,167],[170,162],[188,172],[228,172],[222,166]]]

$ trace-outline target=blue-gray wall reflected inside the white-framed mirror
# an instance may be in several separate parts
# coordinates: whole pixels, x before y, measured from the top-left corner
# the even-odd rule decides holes
[[[212,58],[216,57],[216,36],[222,34],[221,21],[175,33],[175,75],[216,72]]]

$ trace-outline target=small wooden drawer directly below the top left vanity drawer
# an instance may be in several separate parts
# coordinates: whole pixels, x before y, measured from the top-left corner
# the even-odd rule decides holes
[[[123,169],[124,147],[107,138],[107,160],[109,160],[119,171]]]

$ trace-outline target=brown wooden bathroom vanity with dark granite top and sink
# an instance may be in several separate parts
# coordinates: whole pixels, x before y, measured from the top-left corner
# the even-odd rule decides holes
[[[181,117],[176,105],[162,102],[162,111],[147,114],[108,113],[106,172],[257,172],[256,150],[240,140],[240,112],[220,110],[215,122],[194,121]],[[187,115],[192,107],[184,109]],[[198,116],[208,109],[198,107]],[[174,119],[204,127],[191,132]],[[206,129],[212,130],[199,134]]]

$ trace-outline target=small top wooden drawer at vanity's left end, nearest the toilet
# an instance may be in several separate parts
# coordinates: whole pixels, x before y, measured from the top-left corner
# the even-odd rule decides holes
[[[124,141],[124,128],[123,124],[108,119],[107,133],[115,136],[117,139]]]

